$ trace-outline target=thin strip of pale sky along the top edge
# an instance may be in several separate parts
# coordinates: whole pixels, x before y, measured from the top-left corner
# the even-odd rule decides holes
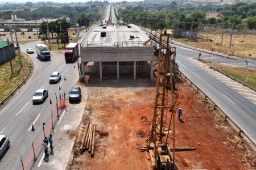
[[[44,2],[47,2],[48,0],[44,1]],[[70,2],[88,2],[90,0],[49,0],[50,2],[62,2],[62,3],[70,3]],[[94,0],[92,0],[94,1]],[[100,0],[99,0],[100,1]],[[101,0],[101,1],[104,1],[104,0]],[[143,1],[143,0],[112,0],[109,2],[122,2],[122,1],[127,1],[127,2],[133,2],[133,1]],[[5,3],[5,2],[10,2],[10,3],[16,3],[17,0],[2,0],[1,3]],[[31,1],[23,1],[23,0],[20,0],[18,1],[19,3],[26,3],[26,2],[43,2],[42,0],[31,0]]]

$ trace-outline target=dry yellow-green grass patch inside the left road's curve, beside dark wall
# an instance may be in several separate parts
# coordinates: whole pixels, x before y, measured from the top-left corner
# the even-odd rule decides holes
[[[11,61],[13,63],[13,75],[11,75],[10,62],[0,65],[0,101],[17,87],[29,72],[30,58],[26,54],[22,53],[22,68],[20,68],[18,52]]]

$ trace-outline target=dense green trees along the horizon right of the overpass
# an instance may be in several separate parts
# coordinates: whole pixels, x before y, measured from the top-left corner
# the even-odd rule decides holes
[[[218,12],[217,18],[207,18],[207,12]],[[224,25],[256,29],[256,3],[235,3],[233,5],[179,6],[175,1],[168,5],[153,4],[150,6],[127,6],[119,10],[119,15],[128,23],[140,23],[155,28],[193,28],[200,29],[203,25]],[[152,21],[154,20],[154,22]]]

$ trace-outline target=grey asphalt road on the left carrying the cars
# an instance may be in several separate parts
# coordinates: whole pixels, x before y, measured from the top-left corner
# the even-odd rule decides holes
[[[38,43],[38,42],[37,42]],[[21,50],[26,48],[35,49],[36,42],[22,45]],[[68,97],[70,88],[77,82],[77,62],[65,63],[63,53],[52,53],[51,61],[41,61],[36,54],[30,54],[34,62],[34,73],[27,84],[3,107],[0,111],[0,133],[10,138],[11,147],[1,158],[0,169],[19,169],[20,155],[22,155],[24,166],[32,162],[32,145],[35,143],[35,151],[42,147],[43,140],[42,123],[46,122],[51,127],[51,111],[56,119],[56,97],[65,93]],[[73,65],[75,64],[75,68]],[[60,71],[61,80],[57,84],[49,84],[48,78],[53,71]],[[67,80],[64,80],[64,76]],[[57,88],[61,84],[61,90]],[[47,88],[49,96],[42,104],[32,104],[32,94],[39,88]],[[52,104],[49,104],[49,100]],[[59,100],[59,99],[58,99]],[[34,122],[35,131],[32,132],[31,125]],[[47,128],[46,135],[51,128]]]

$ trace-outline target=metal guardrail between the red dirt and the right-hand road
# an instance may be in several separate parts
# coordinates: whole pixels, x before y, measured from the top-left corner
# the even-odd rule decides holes
[[[228,118],[228,119],[232,122],[232,124],[236,126],[236,128],[239,130],[238,133],[239,133],[239,136],[240,136],[240,137],[242,137],[242,135],[241,135],[241,133],[242,133],[243,135],[245,135],[245,137],[246,137],[247,139],[249,139],[249,141],[250,141],[254,146],[256,146],[256,145],[255,145],[255,142],[253,141],[253,139],[251,139],[251,138],[245,133],[245,131],[243,131],[243,130],[236,124],[236,122],[234,122],[234,121],[232,120],[232,118],[230,118],[224,111],[222,111],[222,109],[221,109],[220,107],[218,107],[218,105],[217,105],[216,103],[214,103],[214,101],[213,101],[212,99],[210,99],[207,94],[205,94],[203,91],[201,91],[200,88],[197,87],[196,84],[193,83],[189,78],[187,78],[187,76],[185,76],[183,73],[181,73],[181,71],[179,71],[179,74],[182,74],[182,75],[184,76],[185,80],[188,80],[188,81],[190,82],[190,86],[193,85],[194,87],[196,87],[196,91],[197,91],[197,92],[200,91],[200,92],[205,96],[205,97],[204,97],[205,100],[207,100],[207,99],[210,100],[210,102],[214,105],[214,110],[218,109],[219,111],[221,111],[221,112],[225,115],[225,121],[227,121],[227,118]]]

